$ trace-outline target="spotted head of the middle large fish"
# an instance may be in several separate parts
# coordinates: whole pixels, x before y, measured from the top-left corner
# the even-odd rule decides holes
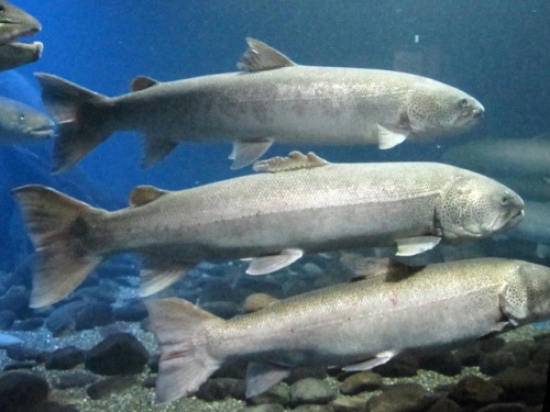
[[[518,224],[524,201],[496,180],[462,169],[443,189],[437,216],[446,241],[482,238]]]

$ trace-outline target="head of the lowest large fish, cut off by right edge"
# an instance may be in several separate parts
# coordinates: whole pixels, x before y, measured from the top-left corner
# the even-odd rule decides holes
[[[550,320],[550,268],[518,261],[505,281],[499,305],[515,324]]]

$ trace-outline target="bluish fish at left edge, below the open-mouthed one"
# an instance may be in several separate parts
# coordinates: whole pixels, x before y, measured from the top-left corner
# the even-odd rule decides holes
[[[36,109],[0,97],[0,144],[44,141],[54,130],[55,123]]]

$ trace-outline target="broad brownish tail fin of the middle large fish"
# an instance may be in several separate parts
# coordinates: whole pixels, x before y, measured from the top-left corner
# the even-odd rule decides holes
[[[90,220],[106,213],[44,186],[12,190],[21,208],[37,261],[31,308],[55,303],[80,285],[102,260],[86,241]]]

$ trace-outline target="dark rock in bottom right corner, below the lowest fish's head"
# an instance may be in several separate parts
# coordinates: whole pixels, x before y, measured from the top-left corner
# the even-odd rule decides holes
[[[504,398],[512,402],[539,404],[544,399],[547,377],[529,369],[506,368],[494,376],[491,382],[504,389]]]

